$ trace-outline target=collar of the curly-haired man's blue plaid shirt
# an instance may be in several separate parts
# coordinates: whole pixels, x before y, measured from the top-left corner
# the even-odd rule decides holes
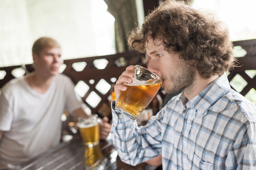
[[[223,74],[215,81],[213,81],[208,87],[206,87],[200,94],[188,101],[188,99],[181,95],[181,101],[187,109],[195,107],[200,114],[204,112],[221,96],[229,92],[231,89],[227,75]]]

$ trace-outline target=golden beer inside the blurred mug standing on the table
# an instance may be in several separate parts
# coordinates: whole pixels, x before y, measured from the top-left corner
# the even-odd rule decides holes
[[[99,144],[99,123],[91,122],[91,124],[79,123],[79,130],[85,146],[93,147]]]

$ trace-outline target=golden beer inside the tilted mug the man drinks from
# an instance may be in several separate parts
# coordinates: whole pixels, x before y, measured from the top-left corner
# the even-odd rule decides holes
[[[161,85],[162,81],[155,84],[125,84],[127,89],[121,92],[115,109],[135,120],[153,100]]]

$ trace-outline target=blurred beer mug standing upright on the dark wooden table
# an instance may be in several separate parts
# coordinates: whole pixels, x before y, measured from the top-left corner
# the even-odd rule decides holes
[[[85,146],[93,147],[99,144],[100,121],[101,119],[97,116],[91,116],[87,119],[79,118],[78,126]]]

